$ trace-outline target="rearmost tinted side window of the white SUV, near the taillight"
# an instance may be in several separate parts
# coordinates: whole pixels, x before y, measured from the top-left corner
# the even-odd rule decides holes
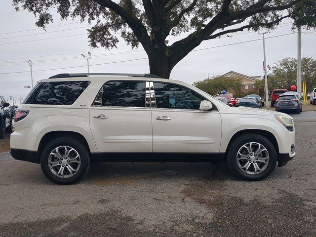
[[[90,81],[40,82],[25,99],[24,104],[71,105]]]

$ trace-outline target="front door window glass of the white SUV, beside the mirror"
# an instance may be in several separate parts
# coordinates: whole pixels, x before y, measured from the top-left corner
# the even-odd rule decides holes
[[[157,108],[199,110],[202,96],[196,92],[171,83],[154,82]]]

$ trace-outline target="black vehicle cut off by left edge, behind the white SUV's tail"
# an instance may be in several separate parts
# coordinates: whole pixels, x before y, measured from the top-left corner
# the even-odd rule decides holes
[[[12,113],[9,106],[0,95],[0,139],[4,138],[5,131],[12,132]]]

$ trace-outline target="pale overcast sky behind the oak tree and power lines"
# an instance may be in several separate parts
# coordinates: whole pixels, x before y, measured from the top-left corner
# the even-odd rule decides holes
[[[54,23],[47,28],[47,33],[35,26],[35,17],[26,10],[15,11],[11,0],[1,0],[0,3],[0,94],[8,99],[9,96],[23,98],[30,91],[24,88],[31,85],[30,73],[5,74],[12,72],[29,71],[27,59],[33,61],[33,70],[46,70],[86,65],[80,53],[87,54],[91,51],[90,64],[110,63],[124,60],[146,58],[146,53],[139,48],[132,52],[124,41],[118,43],[117,49],[105,50],[102,48],[91,49],[88,45],[86,33],[87,22],[79,23],[79,19],[60,21],[59,15],[54,15]],[[266,35],[266,38],[292,33],[288,24],[290,19],[285,19],[280,27]],[[69,24],[74,23],[74,24]],[[62,24],[62,25],[61,25]],[[66,24],[66,25],[65,25]],[[80,28],[80,29],[74,29]],[[33,30],[35,29],[35,30]],[[30,31],[26,31],[30,30]],[[60,31],[65,30],[65,31]],[[24,31],[18,33],[10,33]],[[49,33],[52,31],[60,31]],[[306,32],[306,31],[304,31]],[[10,34],[6,34],[10,33]],[[35,35],[38,34],[38,35]],[[26,36],[31,35],[31,36]],[[77,35],[77,36],[72,36]],[[23,36],[23,37],[17,37]],[[66,37],[71,36],[71,37]],[[201,43],[196,49],[216,47],[248,40],[261,39],[257,33],[235,33],[233,37],[226,36],[208,40]],[[12,38],[17,37],[17,38]],[[65,38],[58,38],[65,37]],[[3,39],[9,38],[9,39]],[[58,38],[40,40],[47,38]],[[169,38],[169,43],[181,36]],[[31,42],[19,42],[37,40]],[[13,43],[19,42],[19,43]],[[302,34],[303,57],[316,58],[316,33]],[[126,52],[117,54],[118,52]],[[113,54],[115,53],[115,54]],[[280,36],[266,40],[267,63],[270,66],[284,57],[297,57],[297,34]],[[58,54],[58,55],[56,55]],[[105,55],[107,54],[107,55]],[[48,56],[51,55],[51,56]],[[216,47],[211,49],[191,52],[172,70],[170,79],[182,80],[192,84],[194,81],[212,75],[222,75],[229,71],[236,71],[247,76],[262,76],[263,46],[262,40],[245,42],[235,45]],[[59,73],[86,73],[86,67],[47,70],[33,72],[34,83]],[[99,66],[90,66],[90,73],[149,73],[148,60],[112,63]]]

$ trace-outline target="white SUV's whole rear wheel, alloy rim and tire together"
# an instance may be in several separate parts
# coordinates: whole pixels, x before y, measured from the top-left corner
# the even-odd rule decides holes
[[[78,182],[90,167],[86,146],[72,137],[52,140],[40,156],[40,166],[51,182],[68,185]]]

